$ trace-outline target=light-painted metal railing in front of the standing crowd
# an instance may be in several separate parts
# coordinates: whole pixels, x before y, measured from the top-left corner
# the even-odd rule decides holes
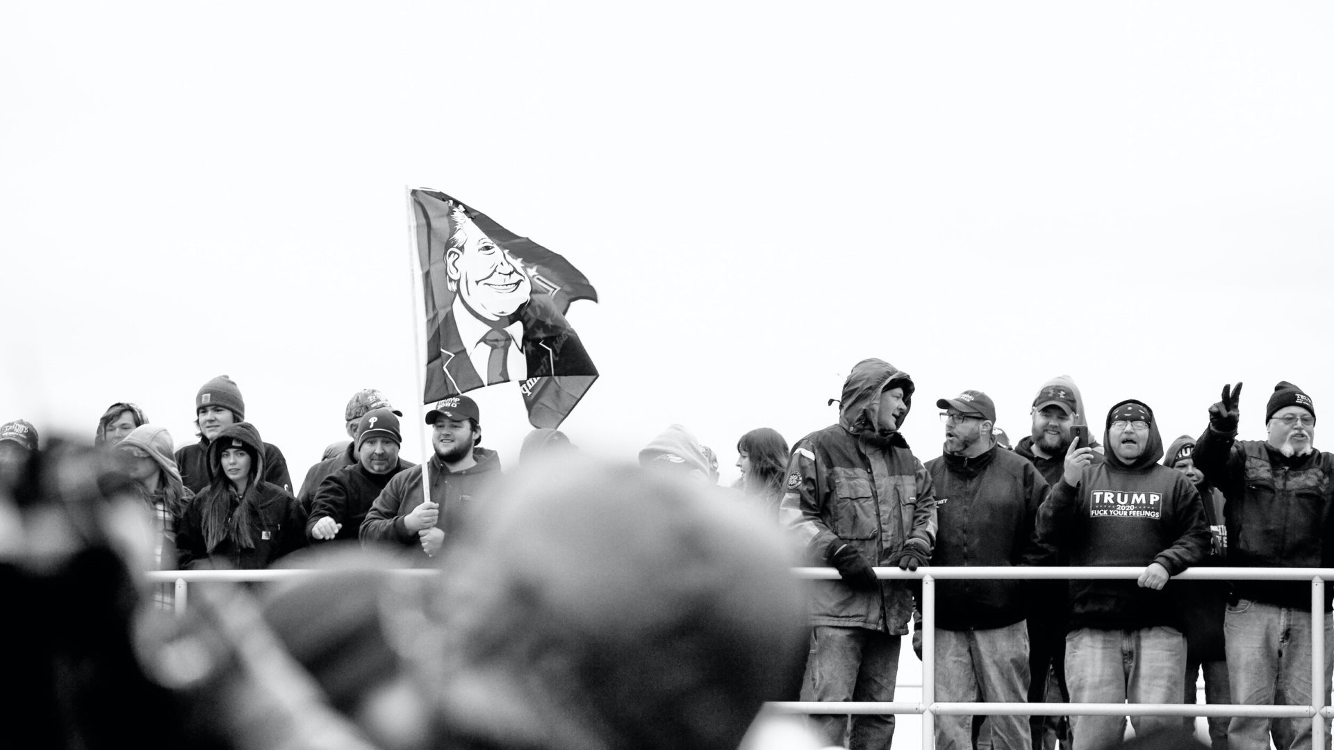
[[[149,582],[175,582],[175,607],[181,614],[188,606],[188,585],[207,582],[271,582],[311,575],[311,570],[189,570],[151,571]],[[431,569],[404,569],[408,575],[436,575]],[[796,567],[803,579],[839,579],[832,567]],[[1177,715],[1177,717],[1285,717],[1311,719],[1311,746],[1325,746],[1325,723],[1334,710],[1325,698],[1325,579],[1334,578],[1334,569],[1250,569],[1199,567],[1173,577],[1173,581],[1309,581],[1311,583],[1311,705],[1254,706],[1239,703],[987,703],[936,702],[935,699],[935,582],[959,579],[1130,579],[1139,578],[1142,567],[920,567],[903,571],[876,567],[886,581],[922,581],[922,701],[920,702],[814,702],[783,701],[767,703],[767,711],[783,714],[920,714],[922,747],[935,746],[936,715]],[[1185,675],[1182,675],[1185,679]]]

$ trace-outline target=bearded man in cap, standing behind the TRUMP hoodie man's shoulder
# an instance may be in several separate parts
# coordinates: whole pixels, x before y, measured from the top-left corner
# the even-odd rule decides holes
[[[1066,451],[1077,424],[1087,424],[1083,396],[1069,375],[1058,375],[1042,384],[1033,399],[1033,435],[1019,440],[1014,452],[1033,462],[1049,487],[1061,482]],[[1085,447],[1085,446],[1081,446]],[[1102,447],[1090,438],[1094,452],[1090,462],[1102,462]],[[1070,565],[1058,558],[1057,565]],[[1059,698],[1070,702],[1066,687],[1066,617],[1069,585],[1065,581],[1034,582],[1029,611],[1029,702],[1043,703]],[[1033,717],[1033,750],[1051,750],[1061,739],[1070,741],[1069,717]]]

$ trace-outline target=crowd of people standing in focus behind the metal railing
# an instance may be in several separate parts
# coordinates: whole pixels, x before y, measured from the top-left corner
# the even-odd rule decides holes
[[[1309,705],[1309,583],[1173,581],[1193,566],[1330,567],[1334,454],[1313,446],[1311,398],[1279,382],[1263,415],[1267,439],[1238,440],[1239,392],[1241,384],[1225,387],[1199,436],[1165,447],[1153,408],[1137,399],[1094,418],[1094,434],[1079,388],[1062,375],[1041,386],[1031,434],[1011,447],[995,427],[992,399],[967,390],[935,402],[944,440],[940,455],[923,463],[900,432],[912,379],[866,359],[847,376],[835,424],[791,447],[767,427],[746,432],[730,496],[780,530],[791,562],[839,574],[806,590],[799,678],[778,679],[780,691],[766,698],[894,699],[902,637],[914,621],[920,655],[920,597],[915,581],[880,578],[876,567],[1062,565],[1142,574],[1069,583],[940,581],[938,701],[1194,703],[1202,671],[1210,703]],[[355,394],[344,412],[348,440],[325,450],[296,494],[281,450],[245,420],[235,382],[207,382],[195,406],[199,440],[180,450],[132,403],[112,404],[96,430],[97,450],[119,458],[156,519],[152,559],[160,569],[264,569],[312,548],[374,548],[426,566],[467,539],[470,519],[500,486],[499,456],[480,446],[482,416],[464,395],[427,411],[432,452],[419,466],[399,456],[403,412],[379,391]],[[0,478],[16,476],[36,450],[32,424],[0,426]],[[576,454],[563,432],[536,430],[520,463]],[[679,424],[655,436],[639,463],[700,487],[719,478],[716,452]],[[474,552],[486,558],[476,546]],[[623,558],[627,550],[598,554]],[[559,586],[559,573],[538,578]],[[670,597],[672,586],[646,590]],[[155,597],[169,606],[169,590]],[[1327,587],[1326,642],[1331,597]],[[482,615],[472,617],[459,622],[476,623],[480,637]],[[1327,703],[1334,649],[1325,654]],[[551,675],[562,677],[570,678]],[[463,711],[456,721],[466,718]],[[1183,721],[1194,722],[1130,718],[1137,734]],[[831,746],[883,750],[892,742],[890,714],[810,722]],[[1126,717],[1102,715],[942,715],[935,739],[948,750],[1101,750],[1122,739],[1125,725]],[[1210,717],[1209,734],[1214,750],[1263,750],[1270,741],[1279,750],[1311,747],[1309,719]]]

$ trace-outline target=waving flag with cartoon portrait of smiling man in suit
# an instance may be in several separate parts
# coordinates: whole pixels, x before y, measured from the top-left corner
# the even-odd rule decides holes
[[[596,290],[560,255],[462,200],[430,190],[408,200],[428,332],[423,402],[500,382],[504,372],[519,380],[528,422],[559,427],[598,379],[564,318],[576,299],[598,302]],[[506,367],[510,347],[518,350]]]

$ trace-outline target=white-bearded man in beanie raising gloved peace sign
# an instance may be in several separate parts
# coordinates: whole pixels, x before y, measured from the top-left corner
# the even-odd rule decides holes
[[[1242,384],[1223,386],[1195,444],[1195,467],[1223,491],[1230,567],[1330,567],[1334,455],[1317,451],[1315,404],[1287,380],[1265,407],[1267,440],[1238,440]],[[1325,585],[1325,695],[1329,703],[1334,629]],[[1227,679],[1238,703],[1311,701],[1311,585],[1305,581],[1234,581],[1223,615]],[[1273,726],[1270,722],[1274,722]],[[1234,717],[1234,750],[1311,747],[1310,719]],[[1325,719],[1329,738],[1329,719]],[[1327,742],[1327,739],[1326,739]]]

